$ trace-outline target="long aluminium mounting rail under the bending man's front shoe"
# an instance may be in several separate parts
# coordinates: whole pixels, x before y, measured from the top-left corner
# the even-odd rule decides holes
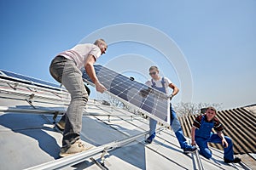
[[[143,137],[144,135],[146,135],[148,133],[148,131],[143,132],[143,133],[139,133],[137,135],[128,137],[126,139],[121,139],[121,140],[117,140],[108,144],[103,144],[101,146],[98,146],[94,149],[91,150],[86,150],[84,152],[75,154],[73,156],[67,156],[67,157],[63,157],[60,159],[56,159],[54,161],[48,161],[45,162],[43,164],[40,164],[38,166],[35,167],[29,167],[26,170],[34,170],[34,169],[61,169],[64,167],[71,167],[73,165],[76,165],[82,161],[85,161],[86,159],[90,158],[90,156],[94,156],[98,153],[106,152],[109,150],[113,150],[115,148],[119,148],[125,144],[130,144],[131,142],[135,141],[136,139]]]

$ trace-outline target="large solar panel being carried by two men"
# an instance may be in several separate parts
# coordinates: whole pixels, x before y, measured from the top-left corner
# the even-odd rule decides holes
[[[94,68],[99,81],[108,89],[108,94],[128,105],[136,106],[155,120],[170,125],[170,99],[166,94],[102,65],[94,65]],[[83,78],[84,82],[94,86],[86,71],[83,71]]]

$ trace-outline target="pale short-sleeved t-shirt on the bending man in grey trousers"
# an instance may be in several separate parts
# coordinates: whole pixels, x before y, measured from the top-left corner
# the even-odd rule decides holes
[[[87,59],[88,55],[92,54],[95,59],[98,59],[102,52],[99,47],[91,43],[78,44],[75,47],[61,52],[58,55],[61,55],[67,59],[72,59],[77,67],[81,69],[84,66],[85,59]]]

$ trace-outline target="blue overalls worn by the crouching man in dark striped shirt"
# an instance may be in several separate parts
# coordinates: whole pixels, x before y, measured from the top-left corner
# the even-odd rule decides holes
[[[216,133],[212,133],[212,127],[214,122],[206,122],[206,116],[202,116],[200,128],[195,129],[195,142],[199,146],[200,154],[210,159],[212,157],[212,151],[208,148],[208,142],[214,144],[222,144],[221,138]],[[234,160],[233,143],[232,140],[224,137],[229,144],[227,148],[224,148],[224,158],[228,160]]]

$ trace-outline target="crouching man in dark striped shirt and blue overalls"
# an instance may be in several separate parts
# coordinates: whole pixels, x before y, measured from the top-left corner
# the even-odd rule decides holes
[[[212,157],[212,151],[208,148],[208,142],[222,144],[224,146],[224,162],[238,163],[241,161],[239,157],[234,158],[232,140],[224,136],[224,127],[216,117],[217,111],[213,107],[208,107],[206,113],[197,116],[191,128],[192,145],[197,144],[200,154],[207,159]],[[212,133],[214,128],[217,133]]]

